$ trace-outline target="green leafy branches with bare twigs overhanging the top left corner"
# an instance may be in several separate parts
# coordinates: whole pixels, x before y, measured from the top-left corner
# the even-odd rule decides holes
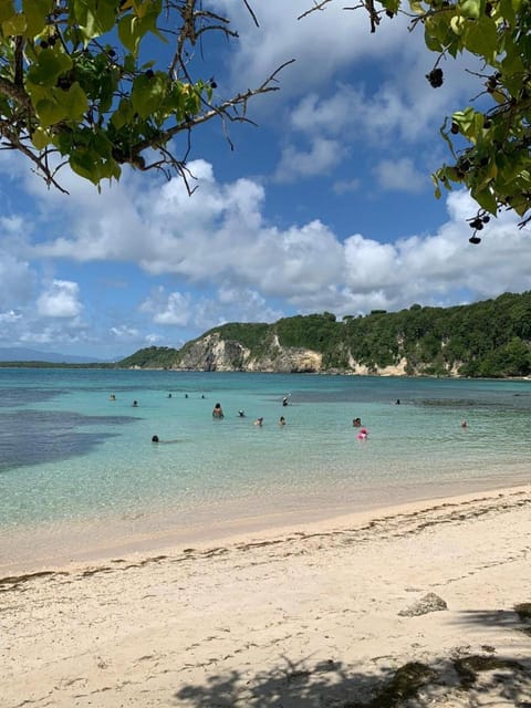
[[[190,131],[216,117],[248,121],[248,100],[278,90],[274,72],[254,90],[218,98],[214,77],[192,76],[207,33],[237,37],[206,6],[0,0],[1,147],[25,155],[56,187],[65,164],[95,185],[118,179],[125,163],[177,170],[186,181]],[[187,139],[177,157],[179,133]]]

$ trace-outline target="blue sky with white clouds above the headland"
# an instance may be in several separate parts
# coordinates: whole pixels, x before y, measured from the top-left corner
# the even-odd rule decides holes
[[[529,227],[506,212],[472,246],[467,192],[434,196],[430,174],[451,160],[439,128],[473,105],[477,67],[442,61],[435,90],[437,58],[405,19],[372,34],[341,1],[301,20],[313,0],[251,4],[258,28],[243,0],[210,2],[239,39],[206,39],[196,74],[222,98],[295,61],[249,103],[258,125],[192,134],[191,196],[178,176],[127,168],[101,192],[63,169],[64,195],[0,150],[0,346],[116,361],[226,322],[531,288]]]

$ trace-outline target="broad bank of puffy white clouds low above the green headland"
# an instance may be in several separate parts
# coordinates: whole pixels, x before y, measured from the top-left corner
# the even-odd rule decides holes
[[[91,260],[90,242],[97,240],[97,258],[133,261],[150,278],[171,274],[217,290],[217,298],[208,298],[155,287],[140,312],[159,326],[270,321],[290,308],[337,314],[394,310],[412,302],[446,304],[464,289],[473,300],[529,288],[529,235],[507,214],[491,220],[483,243],[473,248],[466,217],[476,206],[462,191],[448,195],[448,220],[434,233],[399,240],[389,233],[387,243],[361,233],[342,240],[320,220],[272,227],[263,217],[263,186],[250,179],[218,183],[205,163],[192,168],[205,178],[192,197],[178,179],[142,192],[126,180],[103,191],[97,214],[74,196],[65,215],[74,219],[72,237],[41,243],[37,252]],[[394,168],[402,169],[400,179],[415,180],[410,163]],[[100,215],[113,201],[123,205],[133,228],[115,233],[105,227]],[[271,309],[270,298],[281,306]],[[40,299],[46,314],[73,316],[79,309],[75,283],[55,283]]]

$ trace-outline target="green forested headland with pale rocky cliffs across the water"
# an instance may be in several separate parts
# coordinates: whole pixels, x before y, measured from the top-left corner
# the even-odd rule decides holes
[[[181,348],[142,348],[118,366],[199,371],[403,373],[507,377],[531,374],[531,291],[452,308],[330,312],[272,324],[229,323]],[[398,371],[398,368],[400,371]],[[394,371],[396,369],[396,371]]]

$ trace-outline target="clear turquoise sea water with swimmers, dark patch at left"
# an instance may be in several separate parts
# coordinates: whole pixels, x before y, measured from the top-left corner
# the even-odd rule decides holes
[[[0,368],[0,531],[528,483],[530,414],[529,381]]]

